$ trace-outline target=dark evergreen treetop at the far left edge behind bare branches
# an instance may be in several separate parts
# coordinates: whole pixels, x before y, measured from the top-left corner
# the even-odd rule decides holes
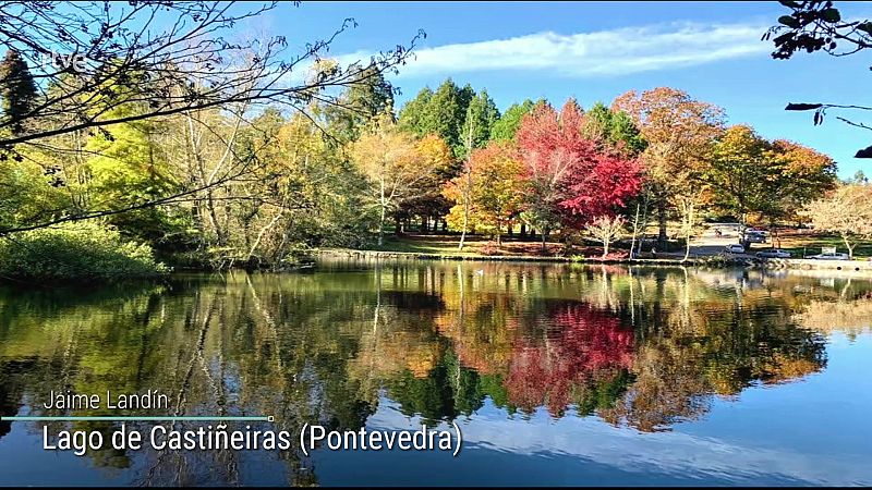
[[[24,117],[36,99],[36,84],[25,61],[17,51],[10,49],[0,62],[0,99],[2,99],[2,126],[12,134],[24,130]],[[0,127],[2,127],[0,126]]]

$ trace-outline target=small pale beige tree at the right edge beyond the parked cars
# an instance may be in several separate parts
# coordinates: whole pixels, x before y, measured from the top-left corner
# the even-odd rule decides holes
[[[843,185],[829,196],[810,203],[803,213],[815,230],[837,233],[853,258],[857,242],[872,238],[872,186]]]

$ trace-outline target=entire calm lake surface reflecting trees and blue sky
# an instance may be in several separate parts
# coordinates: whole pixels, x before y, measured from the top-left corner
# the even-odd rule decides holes
[[[0,422],[0,485],[872,485],[871,322],[872,283],[811,272],[325,261],[4,289],[0,414],[153,389],[166,415],[455,421],[464,444],[78,457]]]

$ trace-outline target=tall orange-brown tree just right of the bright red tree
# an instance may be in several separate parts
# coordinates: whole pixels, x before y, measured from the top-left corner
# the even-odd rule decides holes
[[[611,108],[627,113],[646,142],[640,159],[656,205],[659,246],[665,248],[669,199],[694,185],[701,174],[712,144],[723,131],[723,110],[669,87],[628,91],[616,98]]]

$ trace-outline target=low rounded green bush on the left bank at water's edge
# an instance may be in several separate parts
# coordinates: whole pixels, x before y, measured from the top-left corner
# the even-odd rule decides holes
[[[168,269],[152,247],[122,240],[95,221],[15,233],[0,238],[0,275],[27,281],[97,281],[154,277]]]

